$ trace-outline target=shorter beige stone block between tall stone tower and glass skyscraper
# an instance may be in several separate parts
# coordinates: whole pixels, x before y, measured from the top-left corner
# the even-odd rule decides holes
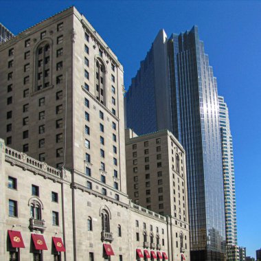
[[[135,204],[172,220],[173,260],[188,260],[185,151],[170,131],[137,136],[126,129],[128,195]]]

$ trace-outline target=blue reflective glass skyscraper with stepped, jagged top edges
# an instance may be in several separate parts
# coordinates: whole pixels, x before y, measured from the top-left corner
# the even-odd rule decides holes
[[[159,31],[126,93],[126,126],[170,130],[187,157],[191,260],[224,260],[225,211],[218,93],[198,29]]]

